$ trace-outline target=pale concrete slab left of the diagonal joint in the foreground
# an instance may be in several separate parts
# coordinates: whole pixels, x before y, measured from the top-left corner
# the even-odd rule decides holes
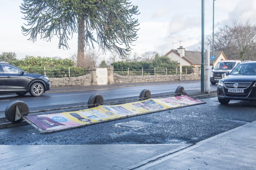
[[[0,165],[1,169],[124,169],[187,146],[190,144],[0,145]]]

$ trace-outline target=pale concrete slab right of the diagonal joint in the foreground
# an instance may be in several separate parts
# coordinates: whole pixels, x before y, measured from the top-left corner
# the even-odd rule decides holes
[[[138,169],[256,169],[256,121]]]

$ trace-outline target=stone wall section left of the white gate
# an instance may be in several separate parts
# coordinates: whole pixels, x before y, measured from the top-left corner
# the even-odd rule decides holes
[[[60,86],[91,86],[91,74],[86,74],[79,77],[63,77],[63,78],[50,78],[51,87]]]

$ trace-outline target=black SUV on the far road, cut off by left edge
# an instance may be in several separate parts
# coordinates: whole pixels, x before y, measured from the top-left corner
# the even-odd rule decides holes
[[[14,65],[0,62],[0,93],[24,96],[29,92],[37,97],[47,90],[50,90],[47,76],[27,73]]]

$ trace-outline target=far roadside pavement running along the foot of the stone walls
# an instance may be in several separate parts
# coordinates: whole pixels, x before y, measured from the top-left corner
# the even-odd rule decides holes
[[[120,87],[134,87],[134,86],[152,86],[160,84],[176,84],[176,83],[194,83],[200,80],[182,80],[182,81],[158,81],[158,82],[143,82],[143,83],[123,83],[123,84],[107,84],[107,85],[96,85],[96,86],[68,86],[68,87],[51,87],[50,92],[64,92],[64,91],[80,91],[80,90],[95,90],[95,89],[109,89],[109,88],[120,88]]]

